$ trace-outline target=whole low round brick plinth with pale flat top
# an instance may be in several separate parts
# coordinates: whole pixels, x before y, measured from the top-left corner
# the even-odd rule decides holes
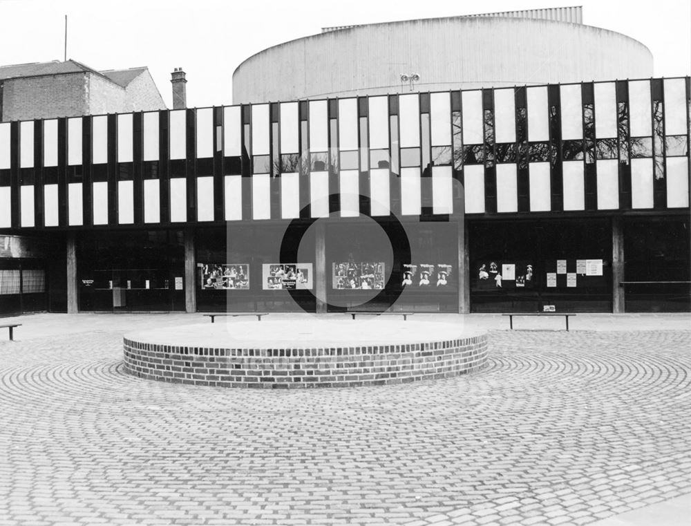
[[[416,321],[229,321],[136,332],[123,344],[132,375],[223,387],[398,384],[470,373],[487,359],[486,333]]]

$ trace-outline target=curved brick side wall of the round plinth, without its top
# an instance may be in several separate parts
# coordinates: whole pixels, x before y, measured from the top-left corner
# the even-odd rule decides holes
[[[176,347],[124,339],[132,375],[203,386],[352,387],[471,373],[487,359],[487,337],[425,344],[305,349]]]

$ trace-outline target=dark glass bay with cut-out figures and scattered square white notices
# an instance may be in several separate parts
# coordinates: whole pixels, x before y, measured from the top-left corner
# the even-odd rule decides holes
[[[609,219],[471,223],[471,312],[612,312]]]

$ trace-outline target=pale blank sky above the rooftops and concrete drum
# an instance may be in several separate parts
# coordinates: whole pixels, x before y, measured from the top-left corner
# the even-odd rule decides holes
[[[655,76],[691,74],[689,0],[0,0],[0,64],[63,59],[68,15],[68,58],[97,70],[149,66],[168,106],[170,73],[182,67],[188,106],[213,106],[231,104],[244,59],[322,27],[574,5],[584,24],[650,48]]]

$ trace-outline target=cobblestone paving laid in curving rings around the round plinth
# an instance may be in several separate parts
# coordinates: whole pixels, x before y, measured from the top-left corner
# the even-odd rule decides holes
[[[436,382],[126,375],[115,332],[0,342],[0,525],[580,525],[691,493],[691,332],[491,332]]]

